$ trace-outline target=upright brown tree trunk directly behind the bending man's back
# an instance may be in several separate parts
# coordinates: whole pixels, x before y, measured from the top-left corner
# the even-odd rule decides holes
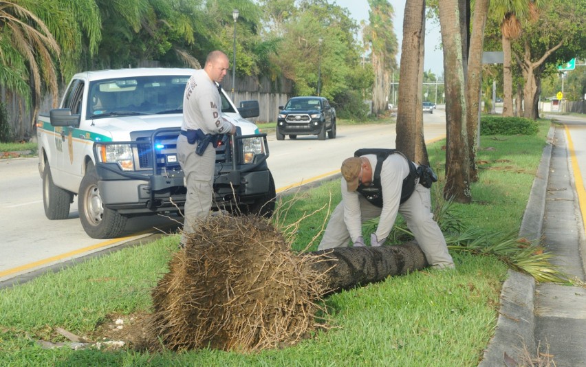
[[[424,140],[422,140],[423,110],[421,96],[423,88],[425,1],[407,0],[404,14],[395,148],[404,153],[413,162],[422,162],[422,152],[425,152],[425,157],[427,156]]]

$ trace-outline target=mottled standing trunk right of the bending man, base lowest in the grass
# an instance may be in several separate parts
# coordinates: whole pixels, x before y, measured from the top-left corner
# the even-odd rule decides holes
[[[446,186],[444,198],[470,203],[470,156],[466,129],[466,90],[458,0],[439,1],[446,80]]]

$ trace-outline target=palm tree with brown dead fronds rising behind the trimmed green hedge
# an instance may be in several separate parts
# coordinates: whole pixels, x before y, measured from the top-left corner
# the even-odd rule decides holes
[[[511,41],[521,35],[521,20],[537,18],[545,0],[492,0],[490,14],[501,19],[503,43],[503,116],[512,116]]]

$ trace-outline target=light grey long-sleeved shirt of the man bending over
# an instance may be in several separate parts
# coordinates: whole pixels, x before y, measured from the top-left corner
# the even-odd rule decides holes
[[[364,155],[370,162],[372,168],[371,180],[374,179],[374,170],[376,168],[376,155]],[[380,170],[380,186],[382,187],[382,210],[380,220],[376,229],[376,237],[379,240],[387,238],[397,214],[399,212],[399,203],[401,201],[401,189],[403,179],[409,175],[409,164],[400,154],[391,154],[382,162]],[[360,195],[356,191],[348,191],[346,180],[342,179],[342,201],[344,203],[344,222],[348,228],[352,242],[356,242],[358,237],[362,236],[362,218],[360,213]]]

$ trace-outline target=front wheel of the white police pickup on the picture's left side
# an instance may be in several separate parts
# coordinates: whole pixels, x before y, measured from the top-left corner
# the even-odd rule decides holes
[[[81,225],[91,238],[115,238],[126,227],[126,216],[104,207],[93,163],[87,165],[79,185],[78,211]]]

